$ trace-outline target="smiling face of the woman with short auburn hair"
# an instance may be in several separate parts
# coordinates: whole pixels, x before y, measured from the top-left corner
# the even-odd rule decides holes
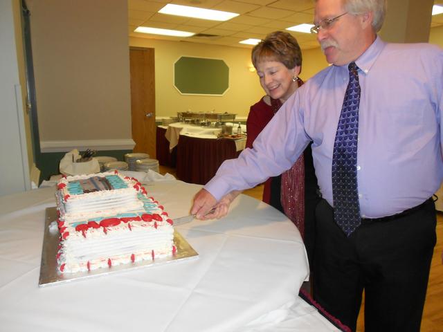
[[[257,63],[257,75],[262,88],[273,99],[287,100],[298,87],[294,75],[300,73],[300,66],[288,69],[282,62],[262,61]]]

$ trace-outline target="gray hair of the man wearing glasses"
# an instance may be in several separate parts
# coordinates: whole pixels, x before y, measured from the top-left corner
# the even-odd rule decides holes
[[[372,28],[376,33],[379,32],[386,16],[387,0],[342,0],[343,7],[351,15],[361,15],[365,12],[372,12]],[[316,0],[317,2],[317,0]]]

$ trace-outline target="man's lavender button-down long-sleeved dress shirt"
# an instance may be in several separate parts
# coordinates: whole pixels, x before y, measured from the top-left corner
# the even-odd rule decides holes
[[[361,216],[379,218],[431,197],[443,178],[443,50],[379,37],[356,59],[361,101],[357,181]],[[217,201],[289,169],[312,140],[323,198],[332,201],[332,152],[349,75],[329,66],[297,89],[237,159],[205,186]]]

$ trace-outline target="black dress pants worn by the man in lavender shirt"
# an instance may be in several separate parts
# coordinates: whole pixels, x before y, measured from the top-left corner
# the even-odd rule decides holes
[[[365,290],[365,332],[419,331],[433,248],[433,201],[394,219],[362,224],[346,237],[323,200],[316,209],[314,299],[355,331]]]

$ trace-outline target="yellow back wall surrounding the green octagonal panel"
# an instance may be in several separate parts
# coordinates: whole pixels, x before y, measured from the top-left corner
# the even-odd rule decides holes
[[[250,48],[235,48],[196,43],[169,42],[130,37],[130,46],[155,49],[156,116],[177,116],[177,111],[212,111],[237,113],[246,117],[249,107],[260,100],[264,91],[257,73],[249,71]],[[224,59],[229,67],[229,89],[222,96],[181,95],[173,86],[173,66],[179,57],[212,57]],[[314,75],[327,63],[320,50],[303,52],[303,80]]]

